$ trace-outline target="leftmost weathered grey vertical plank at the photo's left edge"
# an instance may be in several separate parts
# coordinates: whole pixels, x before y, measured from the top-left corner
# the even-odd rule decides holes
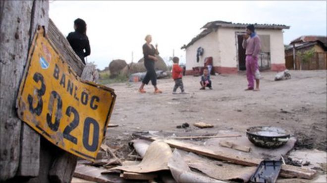
[[[21,121],[16,96],[27,60],[33,1],[0,1],[0,181],[15,176]]]

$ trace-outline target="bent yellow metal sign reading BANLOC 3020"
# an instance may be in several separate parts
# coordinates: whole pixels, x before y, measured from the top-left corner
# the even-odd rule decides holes
[[[19,88],[18,116],[54,145],[94,161],[116,96],[81,80],[56,50],[41,29]]]

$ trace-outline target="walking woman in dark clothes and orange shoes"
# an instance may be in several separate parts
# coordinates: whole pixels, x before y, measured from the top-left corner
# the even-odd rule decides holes
[[[142,84],[139,88],[140,93],[146,93],[144,90],[144,85],[148,84],[151,80],[152,85],[155,87],[155,93],[163,93],[157,87],[157,74],[155,71],[155,62],[158,61],[156,55],[159,55],[158,45],[156,48],[150,44],[152,41],[151,35],[145,37],[146,43],[143,44],[143,55],[144,55],[144,66],[147,69],[147,73],[142,81]]]

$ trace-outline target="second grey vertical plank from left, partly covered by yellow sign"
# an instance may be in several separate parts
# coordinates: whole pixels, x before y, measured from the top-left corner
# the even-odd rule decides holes
[[[38,26],[48,29],[49,2],[47,0],[34,0],[31,12],[31,27],[29,46]],[[36,177],[40,168],[40,135],[22,123],[20,141],[20,160],[16,176]]]

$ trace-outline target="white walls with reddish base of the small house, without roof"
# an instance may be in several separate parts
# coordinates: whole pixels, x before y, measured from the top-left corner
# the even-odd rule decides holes
[[[214,68],[218,73],[237,73],[238,71],[238,48],[236,32],[244,32],[243,29],[218,28],[217,32],[210,33],[206,37],[197,40],[186,49],[186,70],[191,73],[192,67],[203,66],[206,57],[212,56]],[[282,30],[259,29],[258,35],[270,35],[271,70],[285,70],[285,53]],[[196,51],[199,46],[204,48],[204,55],[200,62],[196,62]]]

